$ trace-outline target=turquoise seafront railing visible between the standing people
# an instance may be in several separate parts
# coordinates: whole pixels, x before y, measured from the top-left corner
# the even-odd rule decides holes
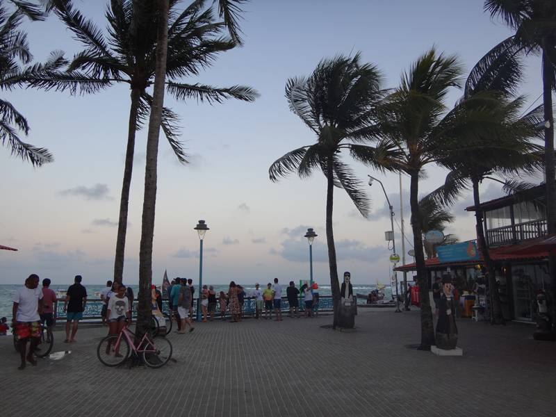
[[[197,311],[197,301],[198,300],[193,301],[193,311]],[[366,300],[363,300],[361,298],[359,298],[359,300],[357,301],[359,301],[359,304],[361,304],[361,302],[363,302],[363,304],[366,302]],[[101,318],[102,304],[103,304],[102,300],[100,299],[88,299],[87,303],[85,304],[85,311],[83,311],[83,320],[99,320]],[[245,316],[254,316],[255,306],[256,306],[256,300],[254,299],[254,297],[245,297],[243,302],[243,314]],[[170,307],[167,299],[164,299],[162,301],[162,309],[164,313],[170,312]],[[136,317],[136,310],[137,310],[137,300],[134,300],[133,309],[132,309],[133,317]],[[289,310],[290,310],[290,304],[288,302],[288,299],[286,297],[282,297],[281,311],[287,312]],[[305,303],[303,302],[303,300],[300,300],[299,302],[299,310],[305,311]],[[318,302],[318,311],[332,311],[332,310],[333,310],[332,295],[321,295],[319,297],[319,302]],[[57,300],[55,311],[56,311],[56,318],[60,320],[64,320],[66,318],[63,298],[59,298]],[[226,315],[228,314],[229,314],[228,311],[226,311]],[[220,302],[216,303],[215,315],[220,316]]]

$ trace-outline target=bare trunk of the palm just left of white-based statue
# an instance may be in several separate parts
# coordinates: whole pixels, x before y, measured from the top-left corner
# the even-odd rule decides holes
[[[432,311],[430,309],[429,279],[425,268],[425,254],[423,252],[423,230],[419,213],[419,173],[411,173],[409,187],[409,204],[411,206],[411,229],[413,230],[413,243],[415,250],[415,263],[417,268],[417,282],[419,285],[419,301],[421,304],[421,343],[419,350],[430,350],[434,341],[434,327],[432,325]]]

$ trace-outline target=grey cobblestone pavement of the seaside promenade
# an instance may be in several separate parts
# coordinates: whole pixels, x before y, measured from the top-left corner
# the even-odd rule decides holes
[[[199,323],[169,335],[176,361],[161,369],[103,366],[95,327],[57,342],[71,350],[61,359],[18,371],[3,337],[2,416],[554,416],[556,344],[530,325],[459,320],[464,356],[436,357],[407,347],[418,311],[359,309],[346,332],[329,322]]]

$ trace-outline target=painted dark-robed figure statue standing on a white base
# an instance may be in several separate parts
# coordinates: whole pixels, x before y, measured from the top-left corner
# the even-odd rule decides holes
[[[442,293],[438,305],[439,320],[436,322],[436,347],[439,349],[455,349],[457,345],[455,321],[457,305],[452,291],[452,277],[445,274],[442,276]]]

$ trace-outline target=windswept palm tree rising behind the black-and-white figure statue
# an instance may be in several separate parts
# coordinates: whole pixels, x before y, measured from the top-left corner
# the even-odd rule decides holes
[[[384,97],[381,83],[382,74],[377,67],[360,63],[359,54],[323,59],[309,77],[289,79],[286,99],[290,110],[313,131],[317,142],[288,152],[268,170],[271,181],[291,172],[305,179],[314,170],[320,170],[327,179],[326,235],[334,328],[338,325],[341,298],[332,229],[334,186],[346,191],[362,215],[368,214],[369,199],[351,168],[341,160],[341,154],[349,152],[352,158],[379,170],[388,167],[388,142],[380,141],[375,147],[365,145],[379,133],[374,118],[377,103]]]

